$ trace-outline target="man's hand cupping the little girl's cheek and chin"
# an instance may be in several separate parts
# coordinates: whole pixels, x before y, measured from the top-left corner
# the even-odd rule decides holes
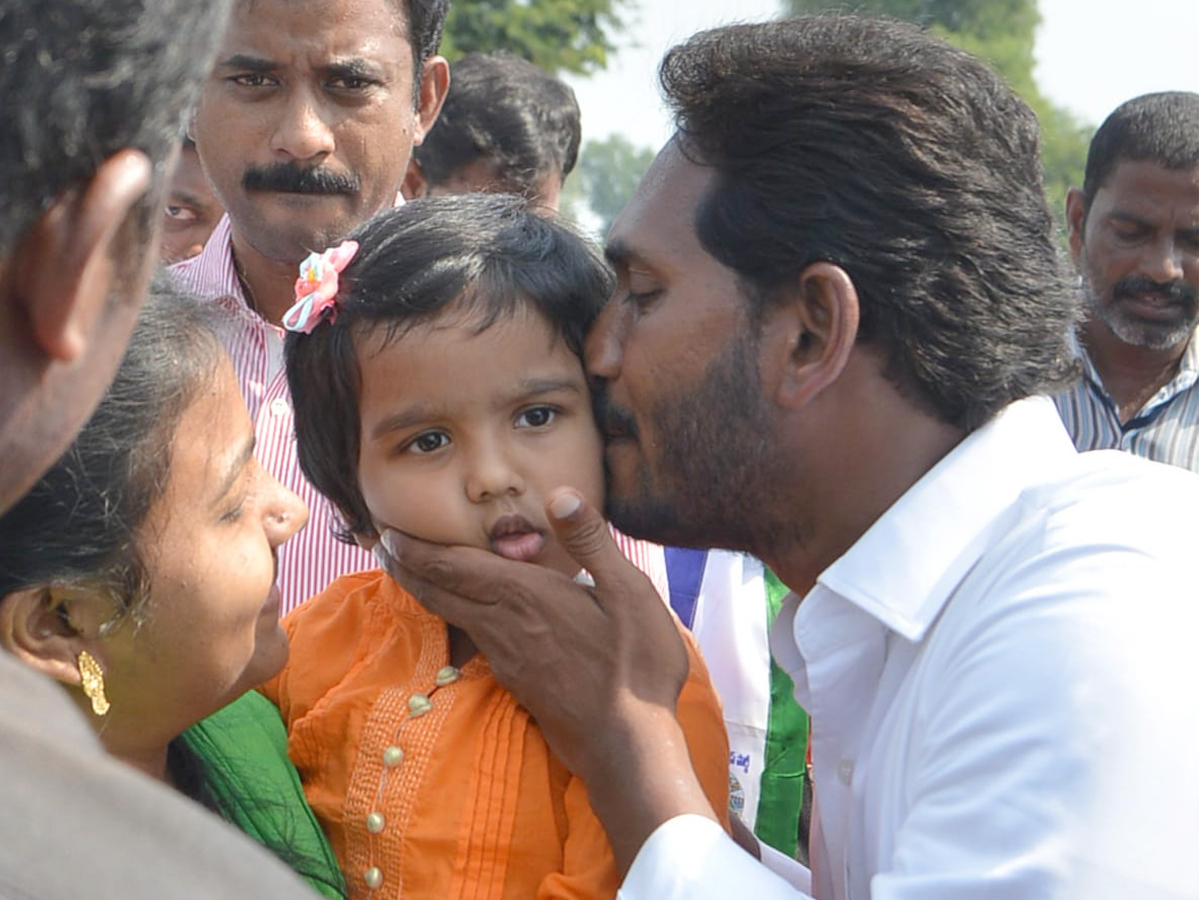
[[[588,785],[624,871],[671,816],[713,817],[674,718],[688,653],[602,516],[569,488],[550,496],[547,512],[594,587],[397,532],[384,533],[377,557],[421,605],[470,635],[551,749]]]

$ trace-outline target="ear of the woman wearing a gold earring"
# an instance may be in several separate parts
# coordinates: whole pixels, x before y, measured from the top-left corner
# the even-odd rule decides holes
[[[0,598],[0,644],[30,668],[64,684],[79,684],[79,652],[100,655],[94,640],[98,630],[77,622],[79,612],[58,588],[14,590]]]

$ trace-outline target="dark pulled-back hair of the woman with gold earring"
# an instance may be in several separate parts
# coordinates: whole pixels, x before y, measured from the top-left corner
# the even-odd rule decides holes
[[[221,354],[208,312],[160,274],[96,412],[0,517],[0,598],[78,584],[113,598],[113,623],[137,617],[149,589],[138,527],[167,484],[180,416]]]

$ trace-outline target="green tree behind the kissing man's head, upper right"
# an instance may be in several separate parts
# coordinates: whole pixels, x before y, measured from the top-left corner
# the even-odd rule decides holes
[[[1062,222],[1067,188],[1082,184],[1092,128],[1038,90],[1033,78],[1033,43],[1042,22],[1037,0],[784,0],[790,16],[834,8],[914,22],[988,60],[1037,113],[1046,198]]]

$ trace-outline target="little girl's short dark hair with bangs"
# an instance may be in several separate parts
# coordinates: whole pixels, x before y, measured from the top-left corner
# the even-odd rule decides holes
[[[337,316],[286,344],[300,468],[346,521],[338,535],[373,535],[359,491],[355,338],[390,342],[448,308],[479,331],[534,308],[578,355],[612,276],[592,244],[506,194],[413,200],[349,235],[359,252],[340,278]]]

